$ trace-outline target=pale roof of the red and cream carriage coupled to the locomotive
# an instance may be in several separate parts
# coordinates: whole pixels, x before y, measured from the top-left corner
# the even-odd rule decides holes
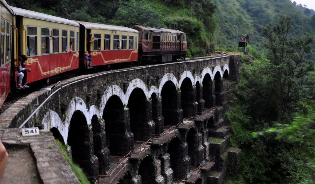
[[[123,27],[118,25],[106,25],[106,24],[98,24],[98,23],[91,23],[91,22],[82,22],[74,20],[79,24],[82,24],[86,29],[103,29],[103,30],[113,30],[113,31],[127,31],[127,32],[134,32],[138,33],[139,31],[135,29],[131,29],[129,27]]]

